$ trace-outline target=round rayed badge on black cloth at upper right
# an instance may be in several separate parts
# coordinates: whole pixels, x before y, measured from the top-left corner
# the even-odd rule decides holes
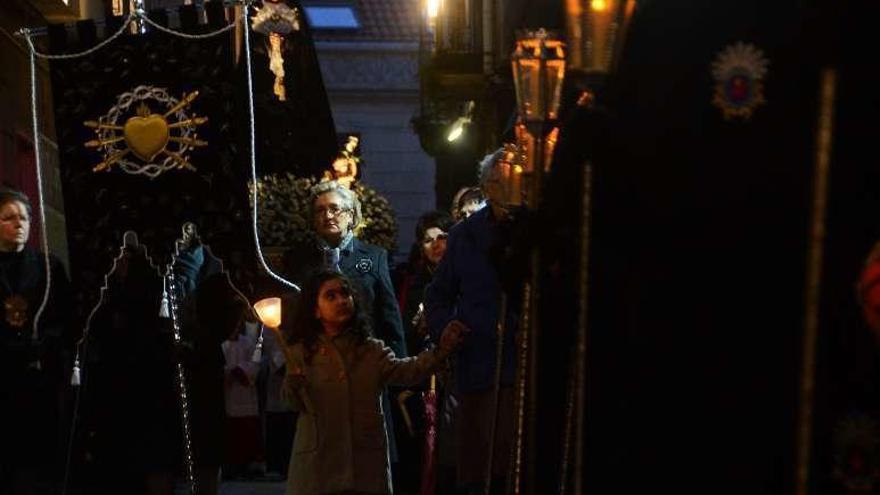
[[[761,49],[741,41],[728,45],[715,57],[712,104],[721,109],[725,120],[749,120],[755,109],[766,103],[764,76],[768,65]]]

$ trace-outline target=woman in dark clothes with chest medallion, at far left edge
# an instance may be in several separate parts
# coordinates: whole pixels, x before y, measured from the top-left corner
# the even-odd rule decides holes
[[[51,291],[34,331],[46,288],[45,258],[26,246],[27,196],[0,189],[0,493],[55,493],[61,451],[60,404],[69,284],[50,257]]]

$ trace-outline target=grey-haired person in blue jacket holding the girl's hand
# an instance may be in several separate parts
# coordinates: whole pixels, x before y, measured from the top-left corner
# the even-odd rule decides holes
[[[509,246],[508,211],[498,200],[501,150],[480,163],[480,187],[489,206],[456,224],[449,233],[446,255],[425,292],[425,312],[431,336],[437,341],[448,325],[471,331],[455,361],[457,396],[458,483],[467,493],[483,493],[488,470],[491,424],[496,420],[492,458],[492,492],[502,493],[513,437],[514,339],[516,318],[506,315],[501,356],[501,379],[495,403],[497,329],[502,294],[499,270]],[[497,418],[495,417],[497,410]]]

